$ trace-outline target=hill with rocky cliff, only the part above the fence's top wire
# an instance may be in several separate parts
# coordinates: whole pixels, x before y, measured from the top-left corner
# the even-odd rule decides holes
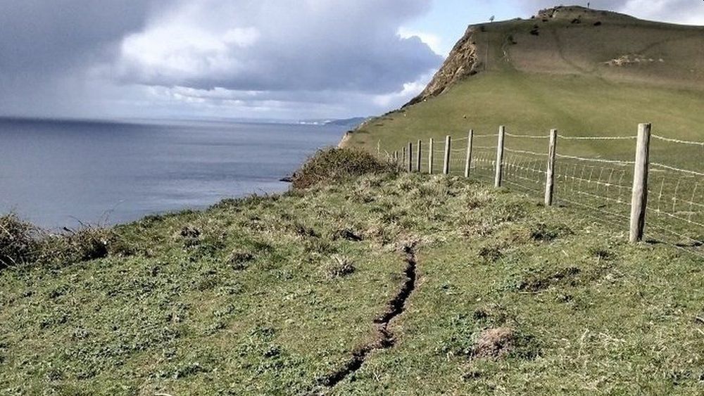
[[[393,151],[416,139],[464,137],[470,128],[495,132],[501,124],[523,134],[557,128],[567,136],[623,136],[639,122],[700,139],[703,48],[704,27],[578,6],[472,25],[420,96],[366,122],[344,144]]]

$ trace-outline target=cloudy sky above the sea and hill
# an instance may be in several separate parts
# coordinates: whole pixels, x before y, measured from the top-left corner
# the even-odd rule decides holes
[[[586,6],[586,1],[572,4]],[[420,93],[467,25],[542,0],[0,0],[0,115],[367,116]],[[704,25],[701,0],[592,8]]]

